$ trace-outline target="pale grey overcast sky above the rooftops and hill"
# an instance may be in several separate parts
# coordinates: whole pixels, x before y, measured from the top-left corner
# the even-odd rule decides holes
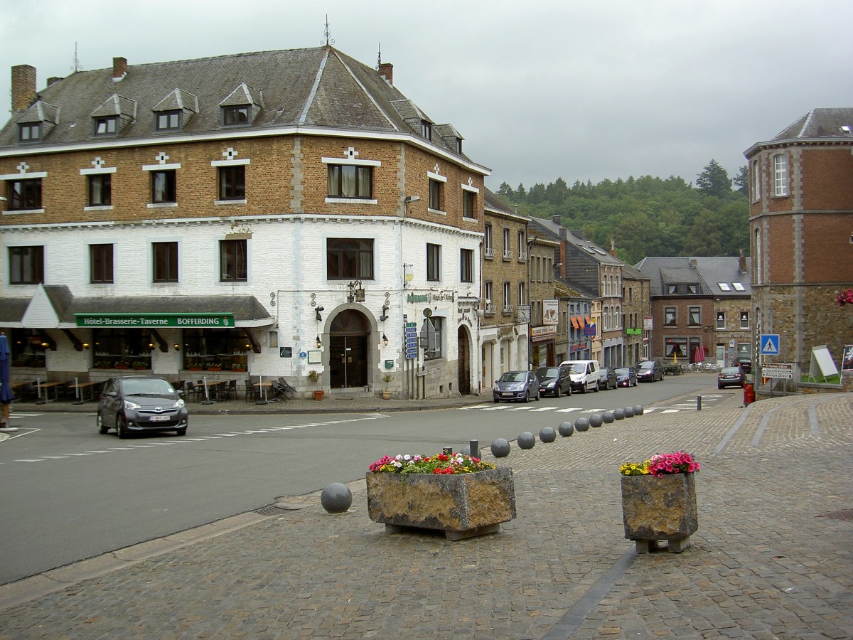
[[[850,0],[0,0],[0,96],[83,70],[324,42],[375,67],[514,188],[730,176],[810,108],[853,107]],[[853,124],[853,123],[851,123]]]

